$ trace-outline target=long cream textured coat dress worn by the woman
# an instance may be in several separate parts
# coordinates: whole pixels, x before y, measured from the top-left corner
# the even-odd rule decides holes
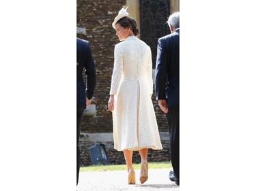
[[[150,47],[131,36],[115,45],[110,94],[115,94],[113,138],[116,150],[162,150],[151,99]]]

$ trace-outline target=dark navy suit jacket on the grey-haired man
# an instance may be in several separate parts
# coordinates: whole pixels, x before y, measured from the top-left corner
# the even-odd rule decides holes
[[[156,100],[167,99],[168,107],[180,104],[180,29],[158,39]]]

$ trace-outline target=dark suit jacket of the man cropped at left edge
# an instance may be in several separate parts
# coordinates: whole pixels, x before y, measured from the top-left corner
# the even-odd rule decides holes
[[[83,72],[87,75],[86,86]],[[96,66],[89,42],[76,37],[76,105],[86,107],[85,97],[91,99],[96,86]]]

